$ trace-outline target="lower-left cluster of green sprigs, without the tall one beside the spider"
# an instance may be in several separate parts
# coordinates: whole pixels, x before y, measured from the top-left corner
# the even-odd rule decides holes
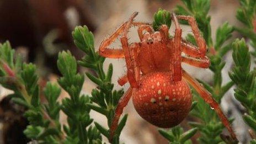
[[[89,126],[93,120],[90,119],[87,104],[91,101],[88,95],[80,95],[84,76],[77,73],[77,62],[71,53],[61,52],[57,61],[63,75],[58,83],[70,94],[70,98],[59,103],[60,87],[47,83],[44,88],[47,103],[43,104],[39,98],[41,89],[35,65],[22,63],[19,56],[14,57],[14,52],[8,41],[0,45],[0,83],[13,90],[9,97],[27,109],[24,116],[29,125],[25,135],[39,143],[101,143],[99,131]],[[68,116],[64,131],[59,121],[60,110]]]

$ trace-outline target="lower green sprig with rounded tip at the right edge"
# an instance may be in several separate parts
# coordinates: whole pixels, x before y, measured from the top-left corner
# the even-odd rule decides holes
[[[256,132],[256,73],[254,69],[250,70],[251,58],[244,39],[234,41],[232,48],[235,66],[229,74],[237,85],[234,97],[247,109],[248,114],[244,114],[243,119]]]

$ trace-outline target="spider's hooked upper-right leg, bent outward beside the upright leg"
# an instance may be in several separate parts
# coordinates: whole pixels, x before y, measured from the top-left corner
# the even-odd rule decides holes
[[[201,58],[204,58],[206,54],[206,42],[204,38],[200,36],[200,32],[198,29],[198,24],[196,23],[196,20],[194,17],[187,16],[187,15],[177,15],[178,19],[188,20],[189,25],[191,26],[191,29],[193,31],[193,34],[195,36],[195,41],[198,47],[185,44],[182,42],[182,47],[184,48],[185,53],[189,53],[190,55],[195,55]]]

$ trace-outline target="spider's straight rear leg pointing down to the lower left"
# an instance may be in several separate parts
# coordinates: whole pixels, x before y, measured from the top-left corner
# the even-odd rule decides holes
[[[113,140],[115,130],[118,127],[119,118],[120,118],[125,106],[128,104],[129,100],[131,99],[131,95],[132,95],[132,88],[129,88],[125,92],[125,94],[121,97],[121,99],[119,100],[118,106],[116,106],[115,115],[114,115],[112,124],[110,126],[110,136],[109,136],[110,142]]]

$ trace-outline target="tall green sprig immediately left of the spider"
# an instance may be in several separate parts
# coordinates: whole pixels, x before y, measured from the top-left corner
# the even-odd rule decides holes
[[[92,100],[93,103],[88,103],[87,105],[90,109],[106,116],[106,119],[108,120],[108,127],[110,127],[114,117],[115,108],[119,99],[124,94],[124,91],[122,89],[113,89],[114,84],[111,83],[113,65],[110,64],[108,70],[104,72],[103,63],[105,58],[99,56],[98,52],[95,52],[93,34],[88,30],[87,26],[77,26],[72,35],[74,38],[74,44],[76,44],[78,49],[81,49],[87,54],[81,61],[78,61],[79,65],[90,68],[94,72],[87,72],[86,76],[98,86],[92,90],[92,97],[90,97],[90,100]],[[123,116],[120,120],[112,143],[119,143],[119,136],[125,126],[126,120],[127,115]],[[106,129],[102,125],[98,124],[98,122],[94,122],[94,124],[101,134],[109,138],[109,128]]]

